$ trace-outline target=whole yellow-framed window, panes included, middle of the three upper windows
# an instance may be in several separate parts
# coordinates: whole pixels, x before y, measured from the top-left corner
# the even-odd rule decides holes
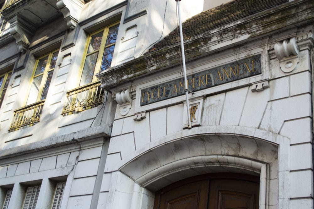
[[[58,51],[50,52],[37,59],[26,105],[46,99]]]

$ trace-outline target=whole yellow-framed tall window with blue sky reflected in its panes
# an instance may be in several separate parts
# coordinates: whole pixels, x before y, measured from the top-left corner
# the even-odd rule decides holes
[[[79,86],[97,80],[96,73],[110,68],[118,30],[119,24],[115,23],[89,35],[84,51]]]

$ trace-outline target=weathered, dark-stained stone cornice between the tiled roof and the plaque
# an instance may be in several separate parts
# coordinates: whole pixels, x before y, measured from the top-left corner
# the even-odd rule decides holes
[[[185,40],[186,61],[313,22],[314,1],[295,0]],[[178,65],[180,56],[178,44],[175,44],[109,68],[96,76],[102,87],[110,91],[122,83]]]

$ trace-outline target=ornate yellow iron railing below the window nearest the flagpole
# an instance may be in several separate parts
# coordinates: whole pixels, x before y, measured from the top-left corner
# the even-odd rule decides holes
[[[62,115],[66,116],[74,111],[82,112],[100,105],[105,95],[105,90],[100,88],[100,85],[97,81],[68,91],[68,102],[62,109]]]

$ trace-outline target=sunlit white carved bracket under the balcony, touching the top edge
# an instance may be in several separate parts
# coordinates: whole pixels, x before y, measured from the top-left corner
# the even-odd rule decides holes
[[[57,7],[63,14],[70,29],[74,29],[84,6],[83,0],[58,0]]]

